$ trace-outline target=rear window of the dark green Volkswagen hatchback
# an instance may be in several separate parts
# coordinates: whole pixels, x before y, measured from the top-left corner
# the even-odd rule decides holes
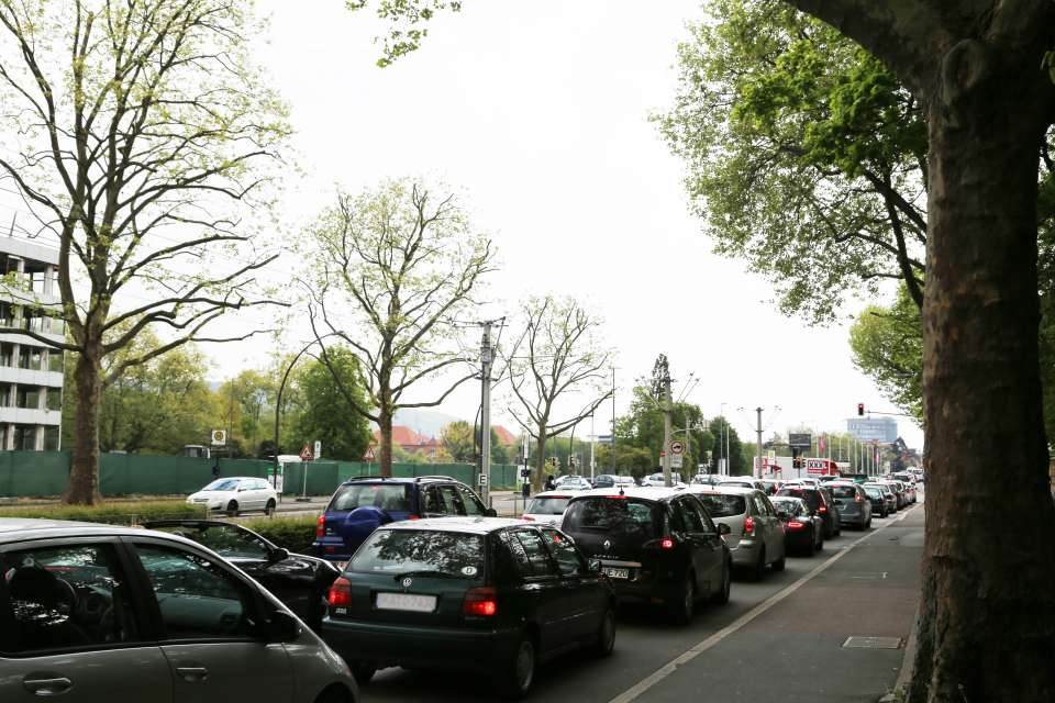
[[[481,579],[484,537],[445,531],[378,529],[355,553],[347,571],[432,571],[459,579]]]

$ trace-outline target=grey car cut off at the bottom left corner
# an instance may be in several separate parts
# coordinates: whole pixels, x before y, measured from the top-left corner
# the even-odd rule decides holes
[[[176,535],[0,518],[0,701],[354,703],[344,661]]]

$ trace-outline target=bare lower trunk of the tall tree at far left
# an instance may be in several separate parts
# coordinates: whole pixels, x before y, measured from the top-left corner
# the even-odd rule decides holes
[[[77,356],[74,382],[77,384],[77,443],[63,502],[96,505],[102,502],[102,493],[99,492],[99,400],[102,393],[102,366],[97,345],[89,346]]]

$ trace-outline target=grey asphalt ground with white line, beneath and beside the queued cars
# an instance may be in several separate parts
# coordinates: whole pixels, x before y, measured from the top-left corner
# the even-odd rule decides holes
[[[903,650],[851,649],[851,636],[908,638],[923,549],[923,506],[844,529],[810,559],[760,583],[737,580],[728,605],[687,627],[646,609],[620,614],[615,651],[543,665],[533,702],[781,701],[871,703],[893,685]],[[834,557],[834,559],[833,559]],[[366,703],[493,701],[459,673],[379,671]]]

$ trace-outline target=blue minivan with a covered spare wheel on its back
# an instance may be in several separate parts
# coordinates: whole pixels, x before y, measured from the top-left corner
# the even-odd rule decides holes
[[[337,487],[319,517],[310,554],[347,561],[379,525],[456,515],[493,517],[496,512],[448,476],[351,479]]]

